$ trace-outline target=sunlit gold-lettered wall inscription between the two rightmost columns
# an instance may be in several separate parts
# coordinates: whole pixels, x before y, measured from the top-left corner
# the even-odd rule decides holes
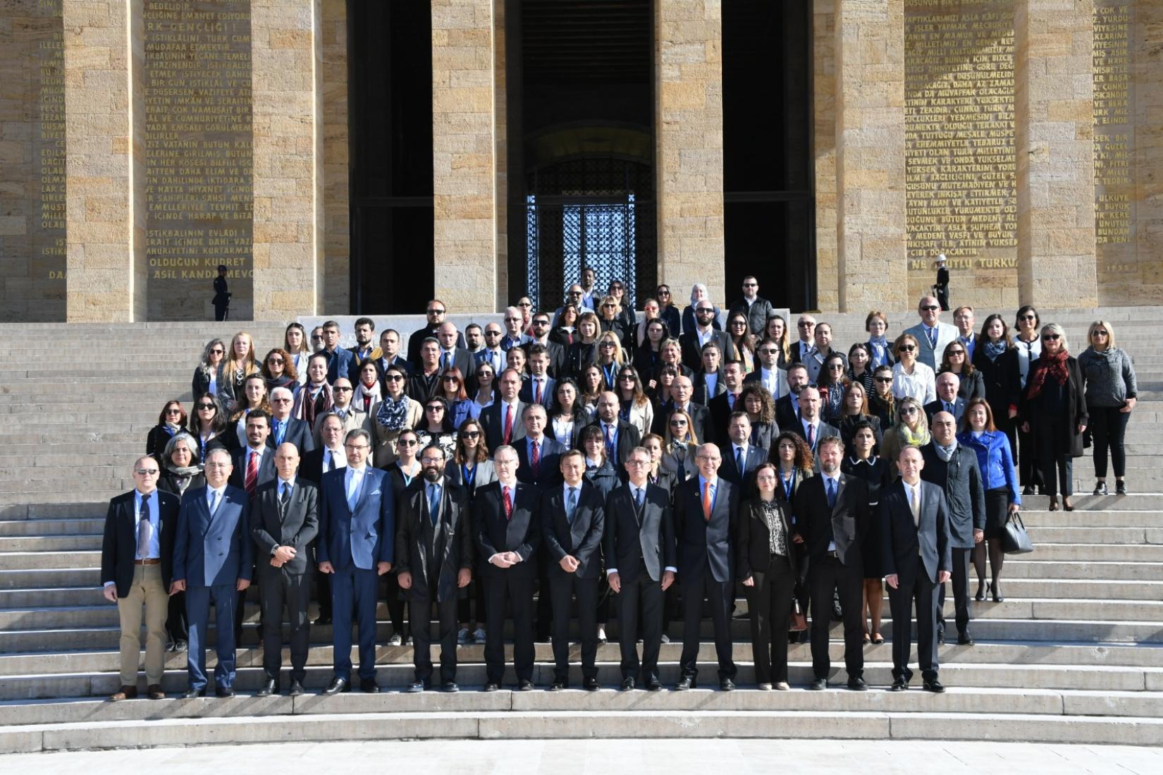
[[[978,287],[1016,280],[1013,111],[1013,3],[906,0],[911,271],[932,275],[944,254]]]

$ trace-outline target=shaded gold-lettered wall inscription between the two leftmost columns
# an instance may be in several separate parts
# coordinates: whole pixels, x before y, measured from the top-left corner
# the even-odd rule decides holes
[[[209,317],[228,269],[250,308],[250,3],[145,0],[145,254],[150,320]]]

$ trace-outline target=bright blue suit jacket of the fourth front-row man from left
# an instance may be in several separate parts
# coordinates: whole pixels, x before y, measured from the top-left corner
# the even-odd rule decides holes
[[[374,570],[377,562],[395,557],[395,496],[387,471],[366,467],[356,510],[348,507],[345,468],[323,474],[319,504],[316,562],[330,562],[337,570],[355,563]]]

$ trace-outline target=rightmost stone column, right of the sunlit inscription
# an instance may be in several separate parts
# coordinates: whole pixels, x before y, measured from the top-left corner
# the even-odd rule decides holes
[[[1014,3],[1021,301],[1098,304],[1092,0]]]

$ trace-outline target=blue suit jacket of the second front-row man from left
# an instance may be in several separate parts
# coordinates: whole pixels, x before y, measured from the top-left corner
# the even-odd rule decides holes
[[[173,577],[187,586],[234,586],[250,580],[255,547],[250,540],[250,498],[245,490],[226,485],[217,513],[211,517],[207,488],[186,490],[178,509],[173,542]]]

